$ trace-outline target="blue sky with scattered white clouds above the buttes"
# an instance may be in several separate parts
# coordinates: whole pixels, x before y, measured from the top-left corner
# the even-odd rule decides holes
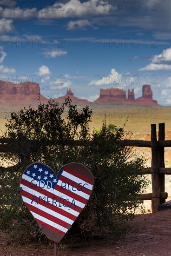
[[[44,96],[94,101],[134,88],[171,104],[170,0],[0,0],[2,80],[35,81]]]

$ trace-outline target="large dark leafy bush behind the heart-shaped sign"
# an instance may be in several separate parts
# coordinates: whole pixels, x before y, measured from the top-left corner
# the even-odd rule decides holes
[[[112,131],[104,121],[99,132],[90,132],[91,115],[89,107],[79,110],[69,99],[62,104],[52,99],[48,104],[39,102],[37,109],[29,107],[11,114],[2,137],[8,143],[0,153],[4,162],[13,163],[0,172],[0,229],[12,235],[41,237],[19,193],[23,171],[36,161],[51,166],[56,173],[64,164],[81,162],[92,171],[95,185],[67,236],[125,234],[140,203],[136,196],[147,185],[145,176],[138,175],[144,162],[142,158],[127,161],[132,150],[119,143],[124,128]]]

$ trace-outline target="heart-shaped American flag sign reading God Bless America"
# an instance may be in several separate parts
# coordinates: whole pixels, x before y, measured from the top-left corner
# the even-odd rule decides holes
[[[41,162],[29,165],[20,194],[48,239],[59,243],[92,194],[92,172],[80,163],[64,165],[58,175]]]

